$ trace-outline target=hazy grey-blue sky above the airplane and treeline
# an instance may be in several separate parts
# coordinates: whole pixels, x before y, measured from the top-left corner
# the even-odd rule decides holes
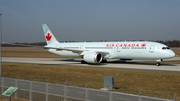
[[[180,40],[180,0],[0,0],[3,42]]]

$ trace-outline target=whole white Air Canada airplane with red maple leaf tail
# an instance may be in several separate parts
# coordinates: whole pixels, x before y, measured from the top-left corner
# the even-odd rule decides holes
[[[149,41],[131,42],[73,42],[60,43],[46,24],[42,24],[47,45],[44,49],[61,56],[81,57],[81,63],[105,63],[107,59],[156,60],[173,58],[175,53],[166,45]]]

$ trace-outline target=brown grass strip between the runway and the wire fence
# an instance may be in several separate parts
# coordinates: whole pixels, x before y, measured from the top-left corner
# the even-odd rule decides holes
[[[116,92],[137,94],[136,89],[143,88],[142,95],[166,99],[172,99],[171,94],[180,91],[180,74],[8,63],[2,64],[2,71],[5,77],[14,78],[20,74],[18,79],[23,80],[34,76],[33,81],[45,82],[50,77],[49,83],[55,84],[68,79],[67,85],[77,87],[90,82],[88,88],[94,89],[103,88],[104,76],[110,76],[115,78]]]

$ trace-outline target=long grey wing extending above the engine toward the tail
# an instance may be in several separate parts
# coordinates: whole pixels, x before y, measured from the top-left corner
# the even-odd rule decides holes
[[[56,49],[57,51],[66,50],[66,51],[71,51],[73,53],[77,53],[79,55],[84,55],[85,53],[94,52],[90,50],[76,50],[76,49],[65,49],[65,48],[55,48],[55,47],[44,47],[43,49]],[[101,51],[95,51],[95,52],[98,52],[102,55],[109,54],[109,52],[101,52]]]

